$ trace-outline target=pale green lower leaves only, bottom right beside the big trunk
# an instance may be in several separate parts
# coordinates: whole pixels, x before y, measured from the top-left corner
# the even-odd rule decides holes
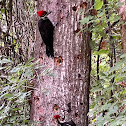
[[[125,62],[125,57],[120,58],[119,62],[110,68],[109,65],[104,66],[106,64],[104,60],[100,68],[102,70],[100,72],[101,79],[95,81],[92,78],[93,84],[90,93],[92,104],[90,104],[89,112],[89,116],[92,118],[92,125],[126,125]],[[93,65],[92,76],[94,76],[95,67],[96,64]],[[115,74],[113,74],[114,71],[116,71]],[[113,78],[115,81],[112,83],[111,80]]]

